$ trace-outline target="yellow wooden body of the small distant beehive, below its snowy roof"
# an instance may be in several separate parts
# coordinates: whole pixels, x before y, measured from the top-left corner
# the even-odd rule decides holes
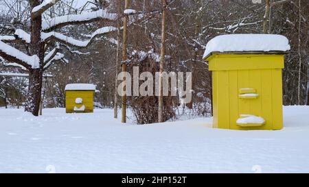
[[[93,91],[72,90],[66,91],[66,111],[67,113],[77,112],[74,107],[80,108],[85,105],[84,112],[93,112]],[[76,98],[82,98],[82,104],[76,104]],[[82,112],[82,111],[81,111]]]

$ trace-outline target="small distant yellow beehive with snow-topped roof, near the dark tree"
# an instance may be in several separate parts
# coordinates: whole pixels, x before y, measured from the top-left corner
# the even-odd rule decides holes
[[[93,112],[93,84],[67,84],[65,86],[65,108],[67,113]]]

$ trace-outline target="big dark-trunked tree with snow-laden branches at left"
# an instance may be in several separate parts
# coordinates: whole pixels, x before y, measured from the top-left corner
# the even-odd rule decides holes
[[[32,112],[34,116],[38,116],[43,72],[54,60],[60,60],[63,57],[63,55],[59,53],[59,45],[55,46],[55,43],[60,42],[76,47],[87,47],[96,36],[116,30],[115,27],[103,27],[95,31],[91,39],[87,41],[76,40],[58,32],[54,32],[54,30],[67,25],[78,25],[102,20],[115,21],[117,19],[117,14],[110,14],[106,10],[98,10],[87,14],[54,17],[50,21],[44,20],[43,13],[49,8],[52,8],[58,1],[59,0],[45,0],[43,2],[39,0],[29,1],[31,10],[31,33],[27,34],[27,32],[22,29],[16,29],[14,36],[1,36],[2,41],[0,40],[0,56],[8,62],[14,62],[19,66],[23,66],[29,72],[29,89],[25,111]],[[25,43],[26,53],[11,47],[3,41]]]

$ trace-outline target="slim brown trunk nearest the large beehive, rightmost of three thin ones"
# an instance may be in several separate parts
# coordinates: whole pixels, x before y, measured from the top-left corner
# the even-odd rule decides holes
[[[166,40],[166,1],[162,0],[162,36],[161,36],[161,58],[160,58],[160,76],[159,76],[159,109],[158,109],[158,122],[163,122],[163,76],[164,63],[165,63],[165,40]]]

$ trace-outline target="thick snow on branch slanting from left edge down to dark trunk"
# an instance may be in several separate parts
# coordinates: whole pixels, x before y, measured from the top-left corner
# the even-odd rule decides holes
[[[0,41],[0,51],[3,53],[13,56],[14,58],[26,62],[32,68],[38,68],[40,66],[40,60],[38,59],[37,55],[26,55],[25,53],[11,47],[10,45],[5,44],[4,42]]]

